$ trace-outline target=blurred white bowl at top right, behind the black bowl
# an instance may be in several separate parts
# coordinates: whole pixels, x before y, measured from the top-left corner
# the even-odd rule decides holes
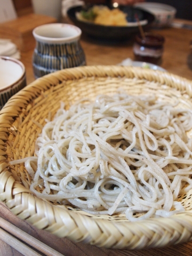
[[[155,21],[153,25],[159,28],[170,26],[177,12],[173,6],[161,3],[137,3],[134,6],[154,14]]]

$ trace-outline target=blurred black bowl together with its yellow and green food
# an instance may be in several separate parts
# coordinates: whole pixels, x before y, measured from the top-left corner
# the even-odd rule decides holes
[[[107,10],[108,14],[103,14],[106,18],[100,18],[103,23],[95,22],[96,19],[98,20],[97,11],[102,12],[103,7],[106,10],[107,6],[105,5],[76,6],[70,8],[67,14],[69,19],[82,29],[83,33],[102,39],[127,39],[133,34],[139,33],[135,13],[139,17],[143,30],[147,30],[155,19],[153,14],[137,7],[118,6],[118,8],[114,8],[111,6],[110,10]],[[115,15],[118,16],[117,19],[115,19]],[[110,23],[109,20],[112,22]]]

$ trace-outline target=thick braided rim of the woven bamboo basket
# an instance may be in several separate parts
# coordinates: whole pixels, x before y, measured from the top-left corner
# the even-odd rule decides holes
[[[34,108],[35,111],[38,109],[39,101],[37,99],[40,97],[41,103],[46,102],[48,96],[46,92],[49,90],[51,90],[49,92],[54,92],[54,87],[57,85],[61,85],[60,89],[63,89],[63,81],[70,80],[77,83],[81,79],[86,80],[92,77],[103,78],[105,81],[107,78],[118,80],[125,77],[137,79],[137,81],[155,82],[185,93],[188,95],[187,100],[189,101],[192,97],[192,81],[169,72],[138,67],[85,66],[60,70],[38,78],[15,94],[0,112],[0,182],[2,184],[0,200],[15,215],[27,220],[35,227],[45,229],[59,237],[67,237],[75,242],[115,249],[125,247],[142,249],[189,241],[192,238],[191,210],[174,214],[169,218],[151,218],[138,222],[89,217],[78,211],[65,209],[37,198],[24,186],[24,171],[20,178],[17,173],[13,173],[8,159],[9,154],[17,154],[17,151],[13,152],[19,141],[18,130],[14,125],[15,120],[19,122],[19,118],[23,116],[23,126],[18,125],[21,138],[18,145],[21,148],[27,147],[25,141],[22,142],[22,130],[25,122],[29,121],[26,113],[30,108]],[[29,136],[29,134],[25,134],[25,136]],[[14,142],[10,146],[13,137]]]

